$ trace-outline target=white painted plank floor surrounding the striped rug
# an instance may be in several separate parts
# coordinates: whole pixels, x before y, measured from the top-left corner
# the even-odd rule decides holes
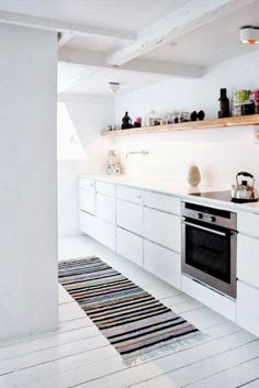
[[[59,258],[98,255],[204,333],[203,342],[131,368],[59,288],[59,330],[0,347],[0,388],[259,387],[259,339],[86,236],[63,239]]]

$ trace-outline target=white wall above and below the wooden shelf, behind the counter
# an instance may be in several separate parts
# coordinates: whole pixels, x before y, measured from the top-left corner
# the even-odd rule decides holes
[[[145,118],[150,110],[158,113],[203,109],[206,118],[216,118],[219,88],[259,89],[259,52],[222,63],[207,70],[201,79],[170,79],[115,98],[115,120],[121,122],[125,111],[134,120]],[[259,185],[259,144],[252,130],[224,129],[182,133],[148,134],[116,141],[126,174],[167,177],[184,180],[191,162],[201,168],[204,186],[229,187],[238,170],[247,169]],[[149,149],[148,157],[125,153]]]

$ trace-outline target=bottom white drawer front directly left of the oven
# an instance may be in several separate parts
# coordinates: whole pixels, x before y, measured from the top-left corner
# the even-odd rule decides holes
[[[171,286],[181,288],[181,256],[149,241],[144,241],[144,268]]]

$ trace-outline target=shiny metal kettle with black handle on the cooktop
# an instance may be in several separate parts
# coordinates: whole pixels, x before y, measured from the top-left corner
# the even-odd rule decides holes
[[[243,179],[241,179],[243,178]],[[248,178],[250,181],[248,184]],[[233,202],[256,202],[258,201],[258,192],[255,189],[255,177],[250,173],[240,171],[236,175],[236,185],[232,187]]]

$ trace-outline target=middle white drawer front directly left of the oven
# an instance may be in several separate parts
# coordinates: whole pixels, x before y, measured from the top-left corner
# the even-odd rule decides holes
[[[159,210],[144,209],[144,236],[155,243],[181,252],[180,217]]]

